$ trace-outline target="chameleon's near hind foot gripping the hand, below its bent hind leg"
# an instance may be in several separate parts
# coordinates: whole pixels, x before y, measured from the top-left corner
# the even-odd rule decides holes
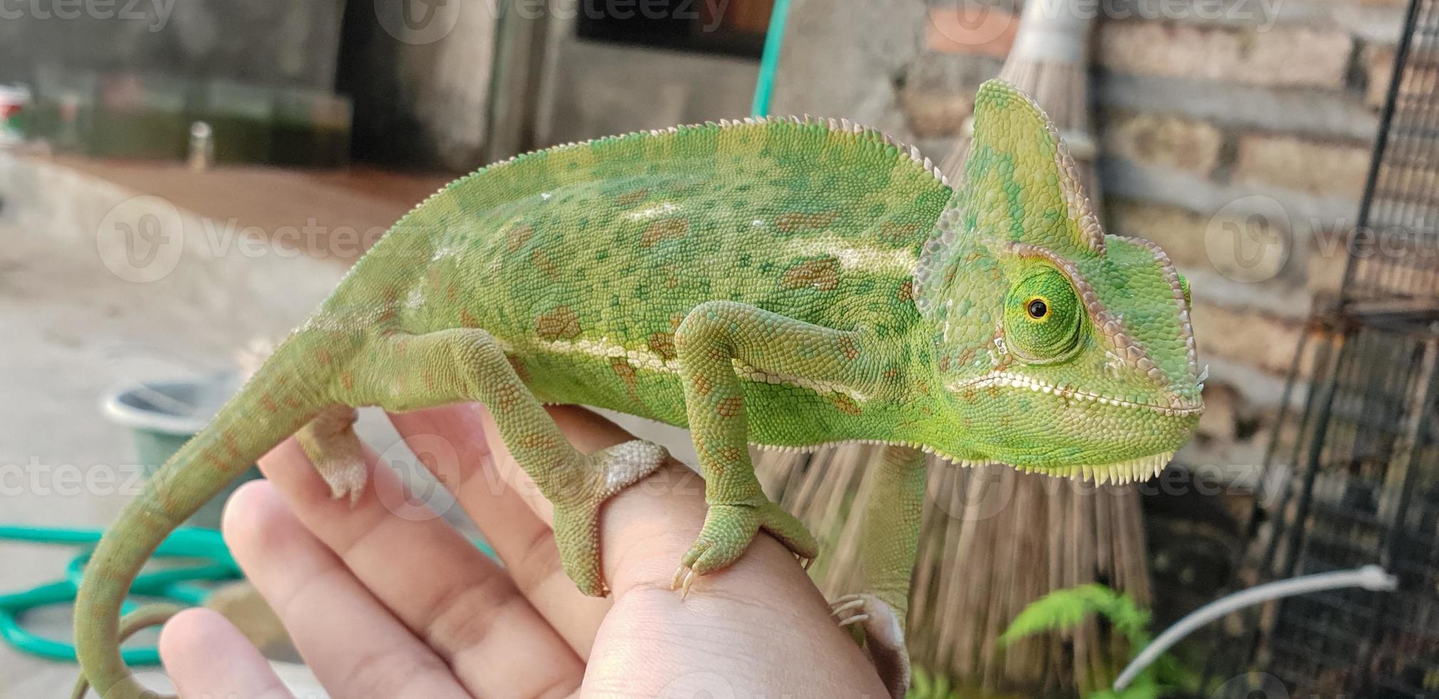
[[[554,503],[554,539],[564,572],[590,597],[610,594],[600,568],[600,505],[665,465],[669,453],[643,440],[625,442],[580,457],[561,472],[564,483],[541,483]],[[554,490],[545,488],[554,485]],[[553,495],[553,496],[551,496]]]

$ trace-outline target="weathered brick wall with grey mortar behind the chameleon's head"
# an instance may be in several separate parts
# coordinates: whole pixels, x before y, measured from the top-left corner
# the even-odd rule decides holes
[[[1017,16],[953,1],[866,3],[886,22],[845,23],[835,16],[848,3],[799,0],[777,111],[859,108],[855,118],[941,158]],[[1076,1],[1099,7],[1091,88],[1108,229],[1158,242],[1193,285],[1210,410],[1181,457],[1258,463],[1311,299],[1343,275],[1338,236],[1363,193],[1406,4]],[[836,46],[888,46],[876,58],[886,68],[855,75],[814,60]],[[826,98],[856,81],[861,105]]]

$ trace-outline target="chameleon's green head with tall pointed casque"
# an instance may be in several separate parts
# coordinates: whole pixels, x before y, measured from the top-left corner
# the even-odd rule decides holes
[[[966,457],[1131,480],[1203,411],[1189,283],[1158,246],[1105,234],[1039,108],[980,88],[964,181],[917,273]]]

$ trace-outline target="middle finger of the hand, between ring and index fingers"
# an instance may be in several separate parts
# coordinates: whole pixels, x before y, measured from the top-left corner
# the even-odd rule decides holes
[[[466,689],[486,696],[499,687],[577,687],[583,663],[505,571],[423,505],[396,495],[403,493],[399,478],[374,467],[374,453],[366,450],[366,459],[373,488],[354,506],[330,496],[294,440],[260,459],[260,469],[299,521]],[[512,662],[517,653],[530,663]]]

